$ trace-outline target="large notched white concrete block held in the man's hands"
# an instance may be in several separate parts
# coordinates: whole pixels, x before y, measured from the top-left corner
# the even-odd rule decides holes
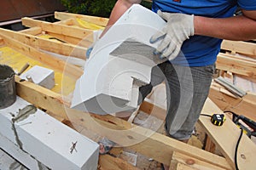
[[[165,61],[153,54],[158,43],[149,42],[163,26],[166,22],[148,8],[131,6],[93,48],[72,107],[102,115],[137,108],[136,82],[147,84],[152,67]]]

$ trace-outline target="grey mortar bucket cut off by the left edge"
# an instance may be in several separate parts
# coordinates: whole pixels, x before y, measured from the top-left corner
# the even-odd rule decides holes
[[[15,71],[8,65],[0,65],[0,109],[16,101]]]

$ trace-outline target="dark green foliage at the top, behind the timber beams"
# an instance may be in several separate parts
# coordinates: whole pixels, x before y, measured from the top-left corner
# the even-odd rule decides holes
[[[116,0],[61,0],[68,12],[109,17]],[[151,8],[151,3],[143,2],[143,6]]]

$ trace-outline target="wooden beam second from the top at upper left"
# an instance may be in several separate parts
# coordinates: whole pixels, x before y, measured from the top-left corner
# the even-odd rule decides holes
[[[63,26],[59,24],[49,23],[41,20],[33,20],[31,18],[22,18],[22,25],[27,27],[39,26],[43,31],[53,32],[56,34],[66,35],[69,37],[76,37],[79,39],[87,39],[94,41],[94,31],[82,29],[72,26]]]

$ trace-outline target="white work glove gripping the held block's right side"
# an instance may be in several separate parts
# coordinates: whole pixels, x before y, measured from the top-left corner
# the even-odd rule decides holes
[[[167,21],[162,31],[158,31],[150,38],[150,42],[160,42],[154,54],[161,54],[160,59],[175,59],[180,51],[183,41],[194,36],[194,15],[171,14],[157,11],[160,17]]]

